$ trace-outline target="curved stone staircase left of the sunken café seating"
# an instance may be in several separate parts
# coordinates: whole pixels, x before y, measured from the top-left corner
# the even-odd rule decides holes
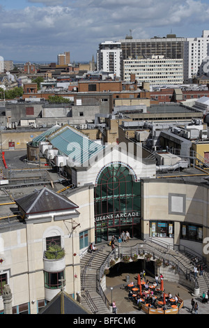
[[[108,255],[109,248],[101,246],[98,251],[86,253],[81,259],[82,305],[94,314],[111,313],[98,293],[98,269]]]

